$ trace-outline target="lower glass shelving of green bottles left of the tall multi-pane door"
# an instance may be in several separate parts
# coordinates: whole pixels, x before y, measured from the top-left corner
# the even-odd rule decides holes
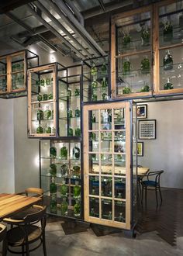
[[[48,213],[81,219],[81,143],[40,140],[40,182]]]

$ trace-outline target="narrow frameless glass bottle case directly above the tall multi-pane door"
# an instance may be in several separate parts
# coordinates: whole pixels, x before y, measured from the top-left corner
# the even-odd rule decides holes
[[[107,101],[110,98],[109,57],[83,61],[83,102]]]

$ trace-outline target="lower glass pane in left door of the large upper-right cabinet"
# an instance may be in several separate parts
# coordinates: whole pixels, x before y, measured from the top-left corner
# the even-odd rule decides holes
[[[150,60],[150,53],[116,59],[117,95],[150,92]]]

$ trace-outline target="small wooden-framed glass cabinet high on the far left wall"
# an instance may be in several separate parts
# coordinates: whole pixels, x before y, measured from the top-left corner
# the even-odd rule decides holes
[[[0,57],[0,97],[4,99],[25,96],[26,70],[39,64],[36,54],[29,50]]]

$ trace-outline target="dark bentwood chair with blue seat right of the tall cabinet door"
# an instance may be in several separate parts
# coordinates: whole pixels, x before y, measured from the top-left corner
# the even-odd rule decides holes
[[[161,184],[160,184],[160,178],[162,173],[164,173],[163,170],[149,171],[147,175],[143,176],[143,178],[147,177],[147,180],[143,180],[142,178],[142,181],[141,181],[141,188],[142,188],[141,203],[143,203],[143,190],[145,190],[146,203],[147,203],[147,190],[155,190],[157,206],[158,206],[157,191],[159,191],[160,197],[161,197],[161,203],[162,203]]]

